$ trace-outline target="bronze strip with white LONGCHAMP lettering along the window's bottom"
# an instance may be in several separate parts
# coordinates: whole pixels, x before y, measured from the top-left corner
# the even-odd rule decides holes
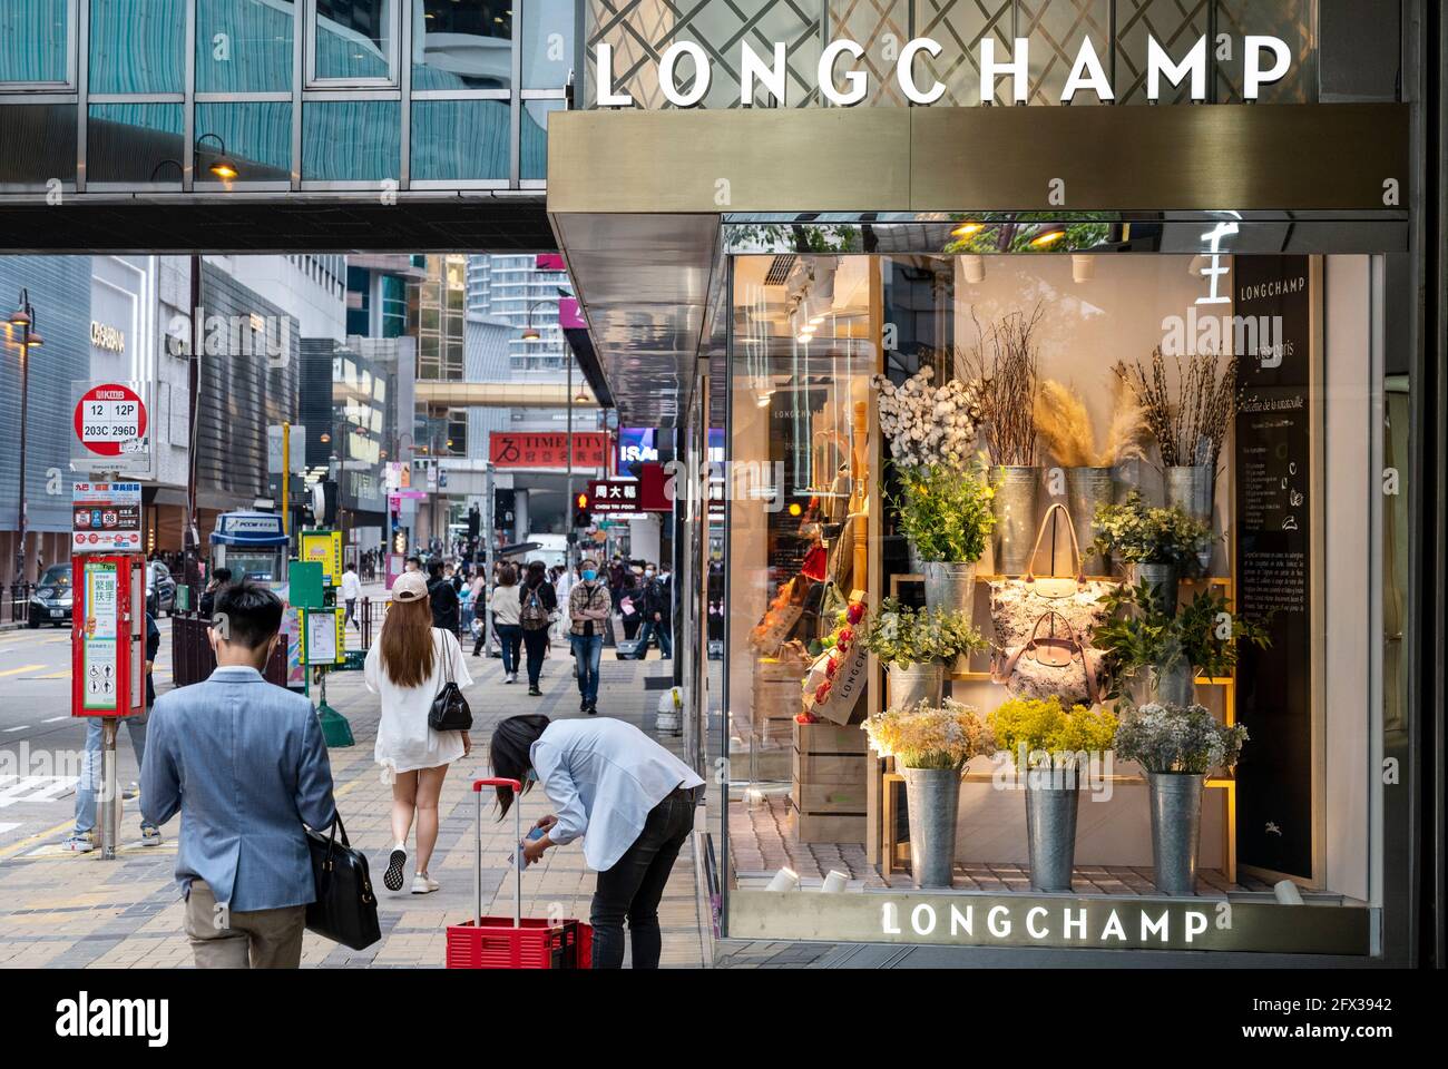
[[[1225,898],[734,891],[730,939],[1090,950],[1371,952],[1371,911]]]

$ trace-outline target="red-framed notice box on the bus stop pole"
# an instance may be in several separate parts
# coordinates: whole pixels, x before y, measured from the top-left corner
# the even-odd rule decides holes
[[[146,562],[71,562],[71,716],[127,717],[146,707]]]

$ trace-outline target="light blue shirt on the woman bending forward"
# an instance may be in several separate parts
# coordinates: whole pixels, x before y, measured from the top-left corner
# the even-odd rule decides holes
[[[611,869],[633,846],[649,810],[675,787],[702,787],[694,769],[633,724],[611,717],[555,720],[530,749],[543,791],[557,807],[547,837],[584,837],[584,860]],[[586,833],[586,834],[585,834]]]

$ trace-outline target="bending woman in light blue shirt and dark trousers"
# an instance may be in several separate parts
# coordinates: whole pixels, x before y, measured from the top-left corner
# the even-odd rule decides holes
[[[704,781],[637,727],[611,717],[508,717],[489,749],[495,776],[518,781],[524,792],[539,782],[557,807],[534,824],[543,836],[523,842],[524,865],[584,836],[584,860],[598,873],[589,911],[594,968],[623,966],[627,920],[633,968],[657,969],[659,900],[694,830]],[[515,798],[510,787],[495,789],[501,820]]]

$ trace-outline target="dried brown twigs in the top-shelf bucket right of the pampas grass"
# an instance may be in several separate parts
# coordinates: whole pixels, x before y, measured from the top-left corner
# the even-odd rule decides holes
[[[1216,471],[1226,429],[1237,413],[1237,356],[1224,364],[1216,353],[1179,356],[1176,391],[1167,382],[1160,346],[1151,352],[1150,364],[1116,366],[1145,411],[1163,466],[1202,465]]]

